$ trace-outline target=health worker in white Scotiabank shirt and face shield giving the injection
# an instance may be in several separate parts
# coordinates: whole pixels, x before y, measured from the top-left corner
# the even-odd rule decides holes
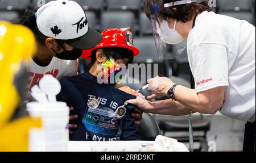
[[[255,152],[255,27],[208,12],[208,1],[146,0],[144,11],[152,22],[160,56],[166,44],[187,40],[195,89],[156,77],[148,80],[154,90],[147,98],[167,95],[171,99],[150,102],[138,97],[127,102],[153,114],[220,111],[247,121],[243,151]]]

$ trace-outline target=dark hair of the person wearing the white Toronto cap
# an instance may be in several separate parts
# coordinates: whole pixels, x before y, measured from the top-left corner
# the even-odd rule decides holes
[[[36,12],[33,10],[27,11],[18,21],[19,24],[30,28],[30,30],[34,33],[36,40],[39,44],[44,45],[46,39],[48,38],[42,32],[39,31],[38,26],[36,24]],[[63,48],[64,41],[55,39],[56,42]]]

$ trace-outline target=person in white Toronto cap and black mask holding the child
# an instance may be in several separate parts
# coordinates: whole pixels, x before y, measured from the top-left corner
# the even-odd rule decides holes
[[[102,39],[88,27],[84,10],[74,1],[51,1],[37,12],[26,12],[19,23],[30,28],[38,42],[38,51],[28,67],[27,92],[45,74],[58,80],[76,76],[82,50],[95,47]]]

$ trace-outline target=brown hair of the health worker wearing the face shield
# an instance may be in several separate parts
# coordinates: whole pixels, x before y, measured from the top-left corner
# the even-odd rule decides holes
[[[201,12],[209,11],[210,7],[208,5],[209,0],[201,1],[200,3],[192,2],[184,5],[177,5],[171,7],[164,7],[164,3],[176,2],[177,0],[144,0],[144,12],[150,19],[154,19],[152,14],[156,9],[154,4],[157,5],[160,10],[155,16],[166,20],[167,18],[176,19],[183,23],[188,22],[193,18],[194,15],[198,15]]]

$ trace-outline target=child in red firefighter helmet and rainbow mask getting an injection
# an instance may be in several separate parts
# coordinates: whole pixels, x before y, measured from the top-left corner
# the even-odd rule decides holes
[[[103,78],[110,81],[110,74],[115,75],[122,69],[118,64],[127,66],[138,55],[129,29],[115,28],[102,32],[104,38],[101,43],[84,51],[83,57],[92,60],[89,72],[60,81],[62,88],[57,99],[73,106],[72,114],[79,116],[74,120],[77,128],[73,129],[71,140],[140,140],[138,126],[131,116],[136,107],[125,105],[125,101],[136,98],[131,89],[117,85],[116,81],[98,82]],[[105,77],[99,77],[100,74]]]

